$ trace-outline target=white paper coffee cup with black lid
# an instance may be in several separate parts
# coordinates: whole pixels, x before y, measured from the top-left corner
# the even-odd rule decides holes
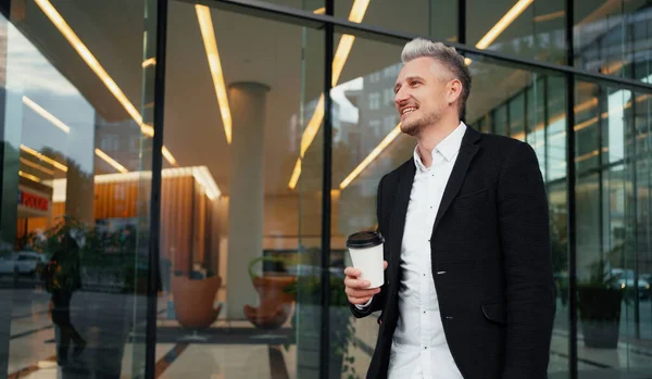
[[[359,279],[368,280],[369,288],[378,288],[385,283],[383,264],[383,245],[385,240],[375,231],[360,231],[349,236],[347,248],[353,267],[362,273]]]

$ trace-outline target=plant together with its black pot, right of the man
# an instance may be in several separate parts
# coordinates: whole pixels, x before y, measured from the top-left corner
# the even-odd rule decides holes
[[[585,345],[617,348],[623,289],[606,261],[599,260],[589,266],[588,279],[577,285],[577,294]]]

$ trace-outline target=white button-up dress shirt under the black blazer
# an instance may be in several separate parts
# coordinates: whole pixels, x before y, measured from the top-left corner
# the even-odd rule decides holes
[[[465,131],[466,125],[460,123],[432,150],[430,167],[424,166],[414,149],[416,173],[401,245],[399,321],[392,337],[389,379],[463,379],[443,333],[432,278],[430,236]]]

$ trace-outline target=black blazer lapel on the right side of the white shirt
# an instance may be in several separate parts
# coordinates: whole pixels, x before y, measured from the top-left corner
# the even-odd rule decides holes
[[[475,129],[472,129],[467,126],[466,132],[464,134],[464,138],[462,139],[462,144],[460,146],[460,153],[457,154],[457,160],[455,161],[455,165],[453,166],[453,170],[451,172],[451,176],[449,177],[449,181],[443,190],[443,195],[441,198],[441,203],[439,204],[439,210],[437,211],[437,217],[435,218],[435,225],[432,226],[432,236],[435,236],[435,230],[441,222],[441,218],[448,211],[449,206],[453,202],[453,199],[460,192],[460,188],[464,182],[464,177],[466,176],[466,170],[468,169],[468,165],[475,154],[478,152],[478,144],[476,143],[480,139],[480,134]]]

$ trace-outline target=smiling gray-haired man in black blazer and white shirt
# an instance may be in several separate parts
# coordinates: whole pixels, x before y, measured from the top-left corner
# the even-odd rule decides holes
[[[385,285],[347,267],[355,317],[380,311],[367,378],[547,378],[554,318],[548,202],[529,144],[460,121],[464,59],[409,42],[396,83],[414,156],[378,185]]]

